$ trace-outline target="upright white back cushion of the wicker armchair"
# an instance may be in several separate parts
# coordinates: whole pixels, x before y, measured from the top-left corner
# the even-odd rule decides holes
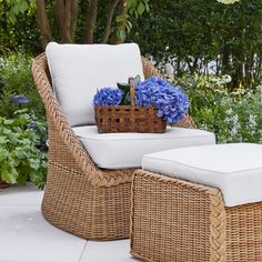
[[[56,95],[72,127],[94,124],[93,95],[104,87],[140,74],[143,68],[138,44],[58,44],[47,50]]]

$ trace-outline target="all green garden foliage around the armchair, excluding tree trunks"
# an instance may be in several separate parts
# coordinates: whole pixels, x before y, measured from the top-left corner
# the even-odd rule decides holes
[[[12,13],[16,10],[10,4],[16,2],[28,2],[24,12]],[[42,48],[36,7],[30,3],[0,0],[0,179],[11,183],[31,180],[41,188],[46,180],[47,124],[30,67]],[[60,41],[52,1],[47,3],[53,37]],[[107,1],[100,3],[98,41]],[[262,1],[241,0],[230,6],[215,0],[149,3],[149,12],[129,18],[132,30],[127,41],[138,42],[142,54],[155,61],[162,72],[167,63],[171,67],[170,80],[188,93],[196,125],[214,132],[218,142],[262,143]],[[88,1],[80,0],[79,4],[75,42],[81,43]],[[112,28],[117,23],[113,21]],[[22,107],[26,111],[18,111],[19,107],[10,102],[18,94],[30,99]],[[21,144],[23,140],[26,144]],[[21,147],[24,154],[17,150]]]

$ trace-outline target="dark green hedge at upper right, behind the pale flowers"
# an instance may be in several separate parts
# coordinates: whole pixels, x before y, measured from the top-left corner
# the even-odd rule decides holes
[[[128,40],[170,62],[178,77],[230,74],[228,84],[255,88],[262,79],[262,1],[151,0]]]

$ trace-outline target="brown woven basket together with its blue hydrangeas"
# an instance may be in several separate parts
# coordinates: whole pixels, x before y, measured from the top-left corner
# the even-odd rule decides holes
[[[120,89],[103,88],[93,98],[99,132],[165,132],[181,121],[189,99],[178,87],[155,75]]]

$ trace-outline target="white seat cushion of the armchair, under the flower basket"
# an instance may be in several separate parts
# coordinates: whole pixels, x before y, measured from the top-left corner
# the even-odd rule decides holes
[[[214,144],[214,134],[194,129],[168,128],[165,133],[98,133],[97,127],[73,128],[98,167],[140,168],[142,157],[161,150]]]

